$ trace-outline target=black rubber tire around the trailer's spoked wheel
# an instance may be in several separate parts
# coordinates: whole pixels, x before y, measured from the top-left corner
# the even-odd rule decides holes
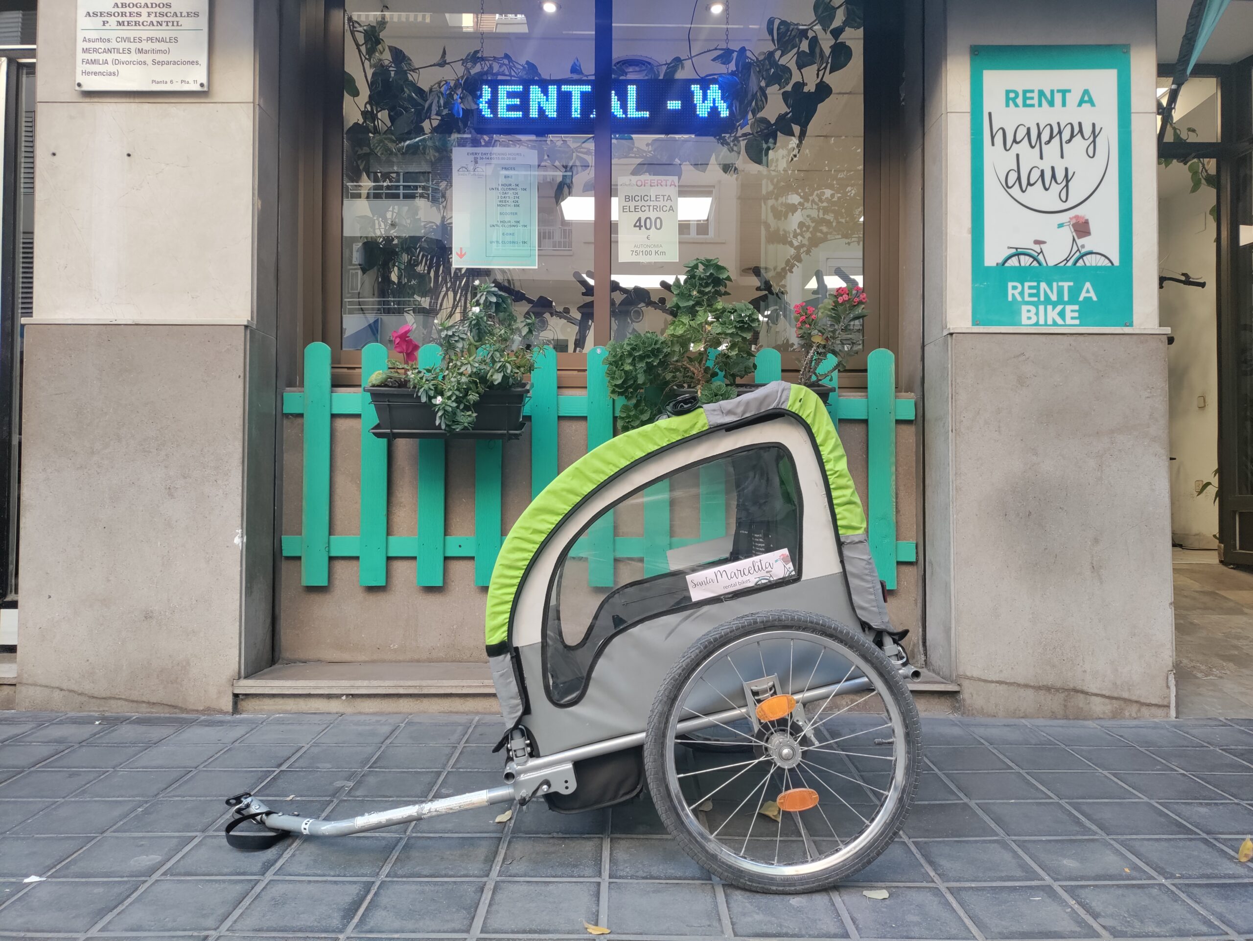
[[[812,634],[828,643],[833,642],[847,649],[851,654],[857,655],[875,674],[872,683],[885,700],[885,707],[888,707],[887,700],[891,699],[892,705],[898,710],[898,722],[903,733],[903,757],[900,761],[902,767],[897,768],[897,763],[893,762],[891,772],[892,781],[900,783],[901,787],[896,792],[895,803],[886,811],[881,809],[880,816],[873,818],[877,832],[848,858],[841,860],[838,863],[833,863],[822,871],[803,875],[754,871],[712,851],[702,842],[702,837],[708,838],[708,833],[698,833],[692,829],[692,821],[689,818],[693,814],[687,812],[689,811],[687,806],[680,807],[680,802],[683,804],[687,803],[687,798],[682,793],[682,786],[679,787],[679,793],[675,794],[670,783],[669,763],[674,762],[673,752],[675,749],[674,741],[670,738],[670,728],[672,723],[677,720],[675,713],[682,708],[679,703],[680,693],[705,664],[710,664],[717,659],[719,652],[733,648],[737,642],[742,642],[744,638],[753,635],[764,637],[771,632],[779,630]],[[819,710],[821,708],[819,705]],[[817,715],[818,713],[814,713],[813,720],[817,720]],[[679,744],[683,743],[680,742]],[[644,742],[644,773],[649,793],[667,831],[675,838],[684,852],[724,882],[756,892],[781,895],[831,888],[873,862],[892,843],[905,818],[908,816],[917,791],[921,766],[922,730],[918,722],[917,707],[910,695],[903,678],[897,673],[887,657],[865,637],[862,630],[850,629],[829,618],[808,611],[769,610],[744,615],[714,628],[697,640],[684,652],[662,682],[653,700]],[[766,788],[769,787],[769,779],[767,777],[763,794]],[[887,801],[885,799],[886,803]],[[782,827],[782,823],[779,826]],[[749,831],[749,834],[752,834],[752,831]],[[776,862],[778,862],[777,852]]]

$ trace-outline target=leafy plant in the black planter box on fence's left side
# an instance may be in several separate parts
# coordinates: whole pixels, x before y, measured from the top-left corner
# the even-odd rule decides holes
[[[442,356],[436,366],[391,358],[370,377],[371,387],[408,387],[435,408],[446,431],[474,427],[484,392],[523,386],[535,368],[535,318],[520,318],[514,302],[490,283],[475,284],[474,303],[439,325]]]

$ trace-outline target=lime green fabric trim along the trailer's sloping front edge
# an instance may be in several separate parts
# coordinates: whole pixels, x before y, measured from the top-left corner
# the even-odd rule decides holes
[[[827,424],[831,424],[829,419]],[[523,510],[496,556],[496,568],[492,569],[487,589],[487,645],[504,643],[509,638],[509,615],[526,566],[549,533],[583,497],[629,464],[708,427],[704,410],[697,408],[678,419],[665,419],[628,431],[585,454],[544,487]]]

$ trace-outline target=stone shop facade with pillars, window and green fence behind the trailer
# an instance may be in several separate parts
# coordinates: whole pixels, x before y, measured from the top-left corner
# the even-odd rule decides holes
[[[609,434],[604,346],[664,330],[665,286],[715,257],[779,351],[759,378],[794,372],[794,302],[871,298],[836,408],[918,695],[1172,714],[1174,8],[147,6],[204,10],[203,89],[84,89],[84,8],[109,4],[43,0],[36,46],[14,50],[38,63],[16,708],[494,709],[500,534]],[[1217,535],[1248,564],[1240,53],[1214,71],[1237,90],[1207,238],[1225,278]],[[630,205],[654,180],[677,193],[660,244]],[[540,320],[551,401],[504,446],[380,450],[360,392],[376,345],[432,342],[487,277]],[[621,525],[623,555],[647,558],[630,540],[649,531]]]

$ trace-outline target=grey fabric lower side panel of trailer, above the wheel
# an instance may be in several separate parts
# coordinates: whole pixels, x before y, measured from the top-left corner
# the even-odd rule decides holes
[[[858,626],[843,573],[689,608],[615,635],[593,667],[585,695],[566,709],[553,705],[544,692],[541,645],[519,647],[523,675],[530,690],[530,713],[524,724],[535,736],[541,754],[643,732],[662,680],[688,647],[732,618],[771,608],[813,611]],[[823,664],[823,669],[828,667],[833,668]],[[842,672],[827,682],[834,683],[841,675]],[[821,679],[814,678],[814,683]]]

